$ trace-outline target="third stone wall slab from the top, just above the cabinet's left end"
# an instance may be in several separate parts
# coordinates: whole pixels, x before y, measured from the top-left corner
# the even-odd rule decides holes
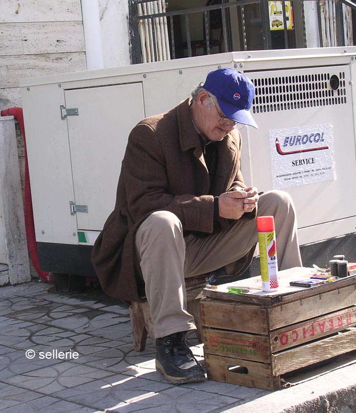
[[[0,59],[0,88],[16,88],[20,79],[29,76],[80,71],[86,67],[84,52],[3,56]]]

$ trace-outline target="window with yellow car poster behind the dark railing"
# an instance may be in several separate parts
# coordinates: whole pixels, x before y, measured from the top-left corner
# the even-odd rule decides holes
[[[347,46],[354,44],[355,10],[351,0],[130,0],[132,63],[240,50]]]

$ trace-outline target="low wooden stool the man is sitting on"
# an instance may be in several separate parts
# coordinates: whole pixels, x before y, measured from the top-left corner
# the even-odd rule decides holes
[[[205,284],[205,276],[192,277],[185,280],[187,311],[194,317],[197,326],[196,334],[200,342],[202,342],[202,327],[199,303],[201,292]],[[153,321],[150,314],[150,306],[145,298],[140,302],[131,302],[130,319],[135,350],[137,352],[142,352],[144,350],[148,334],[152,339],[153,345],[155,345],[156,340],[153,333]]]

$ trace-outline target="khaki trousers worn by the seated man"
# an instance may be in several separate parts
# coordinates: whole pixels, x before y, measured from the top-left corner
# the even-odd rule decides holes
[[[302,266],[294,204],[286,192],[269,191],[258,201],[258,216],[273,215],[280,270]],[[136,233],[136,253],[156,338],[196,329],[186,311],[184,278],[220,269],[243,257],[258,242],[256,220],[237,220],[227,231],[183,237],[168,211],[151,214]]]

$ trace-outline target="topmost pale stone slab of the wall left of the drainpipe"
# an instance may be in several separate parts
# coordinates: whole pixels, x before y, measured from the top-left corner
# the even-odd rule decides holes
[[[0,23],[81,20],[80,0],[2,0]]]

